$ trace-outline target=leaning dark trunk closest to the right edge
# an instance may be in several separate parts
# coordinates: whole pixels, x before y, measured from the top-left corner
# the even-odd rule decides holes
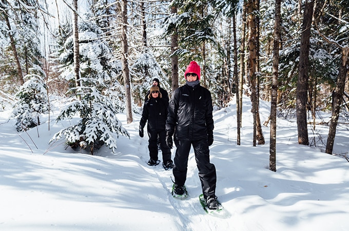
[[[339,111],[340,111],[340,107],[343,100],[345,78],[348,72],[348,67],[347,67],[348,56],[349,56],[349,47],[346,46],[342,49],[342,63],[341,63],[341,66],[339,67],[336,89],[335,89],[335,92],[333,93],[332,117],[331,117],[331,122],[329,123],[328,138],[327,138],[326,151],[325,151],[328,154],[332,154],[333,152],[333,145],[335,142],[336,129],[337,129],[338,118],[339,118]]]

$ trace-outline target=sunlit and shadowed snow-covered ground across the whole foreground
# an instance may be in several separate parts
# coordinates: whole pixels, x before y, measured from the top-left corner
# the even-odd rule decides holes
[[[278,119],[273,172],[268,169],[269,127],[263,126],[266,144],[253,147],[247,98],[241,145],[236,145],[234,102],[214,112],[211,162],[225,207],[216,216],[207,215],[199,203],[193,153],[189,197],[172,198],[171,171],[146,164],[148,138],[138,136],[138,114],[131,124],[119,115],[131,137],[120,137],[115,153],[103,147],[90,156],[67,148],[64,141],[48,143],[63,126],[54,123],[55,115],[50,130],[44,118],[37,129],[17,133],[10,112],[1,111],[0,230],[349,230],[349,163],[321,152],[328,129],[317,126],[313,132],[309,126],[317,146],[303,146],[297,144],[296,123]],[[260,112],[263,123],[267,103],[261,102]],[[337,128],[335,153],[349,155],[348,134],[347,125]]]

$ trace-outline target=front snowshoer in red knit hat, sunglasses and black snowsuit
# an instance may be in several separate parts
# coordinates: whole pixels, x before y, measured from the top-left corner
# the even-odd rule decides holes
[[[186,84],[172,93],[166,120],[167,146],[172,148],[172,136],[176,145],[172,194],[187,194],[184,183],[192,146],[207,206],[209,209],[217,209],[216,167],[210,163],[209,158],[209,146],[214,142],[211,93],[200,85],[200,66],[197,62],[189,63],[184,77]]]

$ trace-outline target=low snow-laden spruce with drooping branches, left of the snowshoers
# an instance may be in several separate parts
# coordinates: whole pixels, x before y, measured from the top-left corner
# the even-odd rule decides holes
[[[81,79],[90,82],[88,79]],[[73,149],[89,148],[91,155],[93,150],[102,145],[112,149],[117,148],[117,137],[119,134],[129,137],[129,133],[123,128],[117,118],[118,111],[108,97],[102,95],[96,87],[77,87],[81,100],[70,103],[57,117],[57,121],[71,119],[78,115],[81,120],[75,125],[54,134],[53,140],[65,137],[66,143]]]

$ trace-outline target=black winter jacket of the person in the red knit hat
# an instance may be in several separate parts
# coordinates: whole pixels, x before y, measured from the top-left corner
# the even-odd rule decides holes
[[[211,93],[200,84],[176,89],[168,106],[166,133],[177,140],[207,139],[214,130]]]

